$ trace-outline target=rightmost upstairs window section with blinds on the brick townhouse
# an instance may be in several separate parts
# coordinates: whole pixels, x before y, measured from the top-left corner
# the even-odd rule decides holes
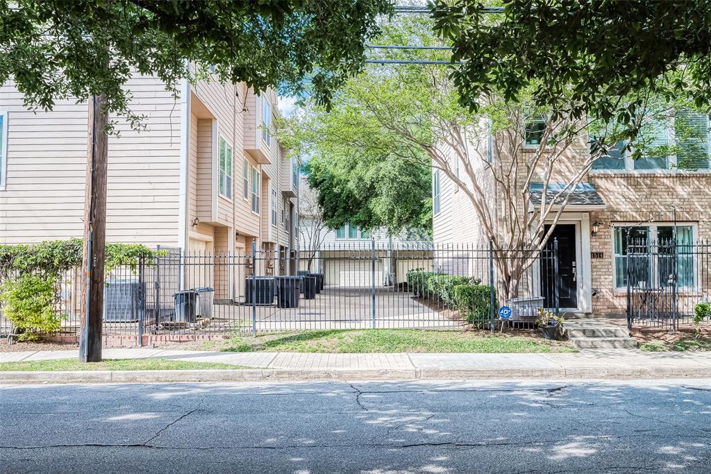
[[[677,167],[688,170],[709,168],[709,121],[706,114],[685,110],[679,112],[674,129],[679,147]]]

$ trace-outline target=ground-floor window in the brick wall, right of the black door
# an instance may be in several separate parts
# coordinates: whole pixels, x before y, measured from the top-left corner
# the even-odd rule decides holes
[[[670,284],[669,275],[673,272],[674,226],[646,225],[614,227],[614,273],[615,288],[627,286],[628,239],[634,245],[634,254],[629,261],[632,266],[634,286],[660,288]],[[678,249],[677,276],[680,287],[695,287],[696,271],[693,253],[694,227],[678,225],[676,227]]]

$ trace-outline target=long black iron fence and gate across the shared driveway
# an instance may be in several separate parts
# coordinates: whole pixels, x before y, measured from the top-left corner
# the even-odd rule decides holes
[[[512,309],[510,325],[526,328],[539,308],[560,308],[555,242],[542,251],[369,240],[314,251],[168,250],[107,276],[107,337],[146,343],[282,330],[496,328],[503,305]],[[70,271],[59,284],[59,335],[78,333],[79,276]],[[10,331],[0,314],[0,333]]]

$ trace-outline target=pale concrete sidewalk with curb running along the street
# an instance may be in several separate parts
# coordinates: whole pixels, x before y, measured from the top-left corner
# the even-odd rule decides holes
[[[0,352],[0,362],[77,357],[76,350]],[[584,350],[562,354],[306,354],[105,349],[106,359],[222,362],[240,370],[0,372],[0,383],[219,382],[328,379],[638,379],[711,375],[711,352]]]

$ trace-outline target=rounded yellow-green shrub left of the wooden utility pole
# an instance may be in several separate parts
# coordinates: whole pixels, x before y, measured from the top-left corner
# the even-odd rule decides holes
[[[60,328],[62,317],[55,312],[56,279],[25,274],[0,285],[3,313],[21,331],[18,340],[36,340],[41,333]]]

